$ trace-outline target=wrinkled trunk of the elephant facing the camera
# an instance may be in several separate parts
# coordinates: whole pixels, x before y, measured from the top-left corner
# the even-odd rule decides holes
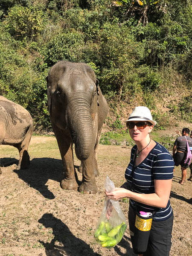
[[[73,105],[69,104],[70,120],[68,124],[72,130],[71,137],[75,144],[76,156],[79,160],[86,160],[94,148],[93,122],[90,112],[89,100],[73,99]],[[69,115],[68,115],[69,116]]]

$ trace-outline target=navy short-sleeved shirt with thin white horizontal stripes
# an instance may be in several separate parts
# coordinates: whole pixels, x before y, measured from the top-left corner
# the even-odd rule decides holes
[[[157,142],[156,142],[157,143]],[[174,161],[169,151],[162,145],[157,143],[149,152],[148,156],[135,166],[134,170],[134,154],[136,154],[137,145],[131,149],[130,163],[125,171],[125,179],[130,183],[134,183],[134,192],[140,194],[154,193],[154,180],[170,180],[173,178]],[[133,172],[132,172],[133,171]],[[133,188],[132,188],[133,191]],[[154,207],[141,204],[134,200],[129,200],[132,209],[137,212],[153,212]],[[166,221],[171,217],[173,211],[170,201],[165,208],[160,208],[153,216],[154,221]]]

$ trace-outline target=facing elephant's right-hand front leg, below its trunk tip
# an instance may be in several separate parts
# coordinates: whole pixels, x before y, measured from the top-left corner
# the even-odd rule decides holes
[[[94,175],[94,157],[93,153],[87,160],[82,161],[83,166],[83,179],[82,184],[79,187],[79,192],[84,192],[85,194],[96,194],[97,185]]]

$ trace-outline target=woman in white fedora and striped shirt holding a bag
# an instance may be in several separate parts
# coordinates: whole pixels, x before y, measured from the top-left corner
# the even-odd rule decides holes
[[[130,163],[125,171],[126,180],[131,189],[116,188],[105,192],[108,198],[129,200],[129,228],[134,232],[137,212],[151,212],[151,224],[147,250],[137,251],[134,248],[134,236],[131,242],[135,254],[139,256],[169,256],[171,249],[173,211],[169,196],[172,186],[174,161],[169,151],[159,143],[151,140],[150,132],[156,121],[146,107],[136,107],[125,121],[131,139],[136,145],[131,149]]]

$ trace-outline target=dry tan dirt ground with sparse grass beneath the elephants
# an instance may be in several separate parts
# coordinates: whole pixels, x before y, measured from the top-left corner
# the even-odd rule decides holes
[[[99,145],[96,195],[61,189],[63,167],[55,137],[32,136],[28,151],[31,164],[26,170],[15,170],[16,164],[1,168],[0,256],[135,255],[126,233],[111,250],[96,244],[93,236],[104,204],[105,178],[108,175],[116,187],[125,182],[130,147]],[[1,163],[18,158],[17,149],[0,146]],[[74,164],[80,164],[76,157]],[[78,177],[82,179],[79,173]],[[192,204],[186,202],[192,198],[192,182],[182,186],[180,177],[177,167],[170,195],[174,212],[171,256],[192,255]],[[128,220],[128,200],[119,204]]]

